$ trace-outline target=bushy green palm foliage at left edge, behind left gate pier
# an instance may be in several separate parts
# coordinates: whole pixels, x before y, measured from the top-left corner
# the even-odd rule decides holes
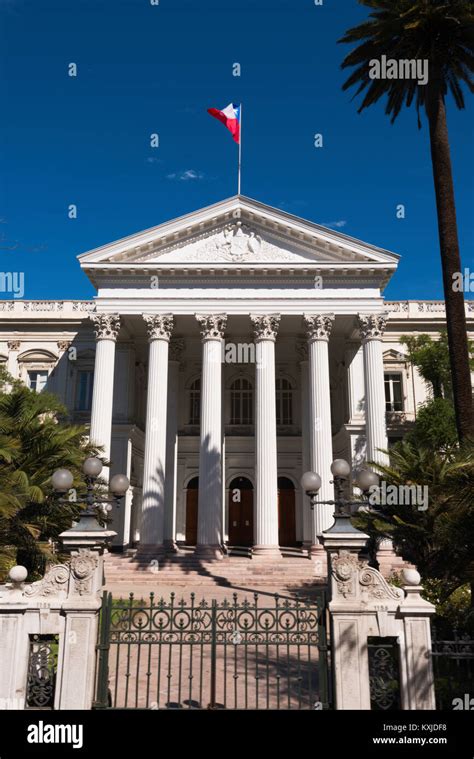
[[[0,574],[12,563],[44,572],[51,541],[71,526],[80,507],[51,498],[50,478],[66,467],[82,487],[82,462],[96,455],[86,428],[67,421],[50,393],[36,393],[0,371]]]

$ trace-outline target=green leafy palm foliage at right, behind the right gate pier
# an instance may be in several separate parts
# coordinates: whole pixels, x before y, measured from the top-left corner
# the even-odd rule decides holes
[[[395,549],[423,578],[442,580],[442,600],[474,584],[474,447],[444,451],[397,443],[390,464],[374,465],[387,485],[428,488],[427,508],[382,503],[358,513],[355,522],[372,538],[390,537]],[[473,596],[474,601],[474,596]]]

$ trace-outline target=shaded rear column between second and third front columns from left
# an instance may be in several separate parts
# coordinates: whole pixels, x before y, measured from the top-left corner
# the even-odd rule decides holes
[[[168,363],[168,410],[166,435],[165,547],[176,551],[176,486],[178,468],[178,388],[179,362],[184,340],[171,340]]]

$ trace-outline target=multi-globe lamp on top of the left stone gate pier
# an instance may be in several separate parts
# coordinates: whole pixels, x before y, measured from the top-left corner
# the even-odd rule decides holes
[[[102,462],[95,456],[91,456],[82,465],[86,493],[81,498],[76,498],[74,503],[83,503],[86,508],[81,510],[79,522],[73,530],[97,530],[102,529],[104,524],[104,512],[112,511],[113,506],[119,506],[130,482],[124,474],[115,474],[109,482],[109,494],[98,496],[96,493],[97,478],[102,471]],[[74,477],[69,469],[56,469],[51,482],[56,494],[67,493],[72,487]],[[70,503],[67,498],[57,498],[58,503]],[[101,513],[102,512],[102,513]]]

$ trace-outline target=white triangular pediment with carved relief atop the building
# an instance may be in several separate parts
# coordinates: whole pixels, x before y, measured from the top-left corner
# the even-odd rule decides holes
[[[79,256],[81,266],[384,265],[398,256],[242,196]]]

